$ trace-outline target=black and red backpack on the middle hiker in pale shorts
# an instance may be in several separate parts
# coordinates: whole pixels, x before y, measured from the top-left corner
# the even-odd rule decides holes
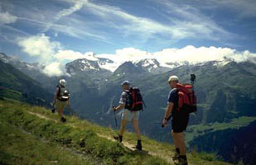
[[[126,93],[128,94],[128,99],[125,103],[125,109],[129,111],[141,111],[143,110],[142,104],[146,107],[138,87],[131,87]]]

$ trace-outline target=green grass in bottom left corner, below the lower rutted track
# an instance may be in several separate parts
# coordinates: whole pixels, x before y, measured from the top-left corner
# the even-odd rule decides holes
[[[0,120],[0,164],[92,164],[61,148],[42,141],[34,135]]]

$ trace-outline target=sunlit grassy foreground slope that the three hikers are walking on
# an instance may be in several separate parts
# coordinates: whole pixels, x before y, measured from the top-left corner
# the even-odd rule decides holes
[[[75,116],[60,123],[56,114],[22,102],[0,101],[0,164],[174,164],[173,146],[142,137],[144,151],[133,151],[135,134],[123,144],[112,140],[110,128]],[[215,154],[188,154],[189,163],[228,165]]]

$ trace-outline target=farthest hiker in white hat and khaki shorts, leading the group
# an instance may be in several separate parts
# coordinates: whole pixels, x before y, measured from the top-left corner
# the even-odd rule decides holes
[[[51,111],[54,113],[56,110],[60,115],[60,121],[63,123],[66,121],[63,115],[65,106],[68,106],[70,110],[70,92],[65,86],[65,79],[60,79],[56,87],[56,92],[53,99],[53,108]]]

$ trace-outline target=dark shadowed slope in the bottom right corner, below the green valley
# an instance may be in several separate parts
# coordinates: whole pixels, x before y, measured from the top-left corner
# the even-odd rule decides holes
[[[254,121],[249,123],[249,120]],[[225,125],[213,125],[212,128],[215,129],[200,131],[200,134],[191,140],[190,146],[196,146],[198,150],[206,152],[215,152],[230,163],[256,164],[254,156],[256,154],[255,117],[254,119],[239,119],[226,128]],[[222,143],[223,140],[225,144]]]

